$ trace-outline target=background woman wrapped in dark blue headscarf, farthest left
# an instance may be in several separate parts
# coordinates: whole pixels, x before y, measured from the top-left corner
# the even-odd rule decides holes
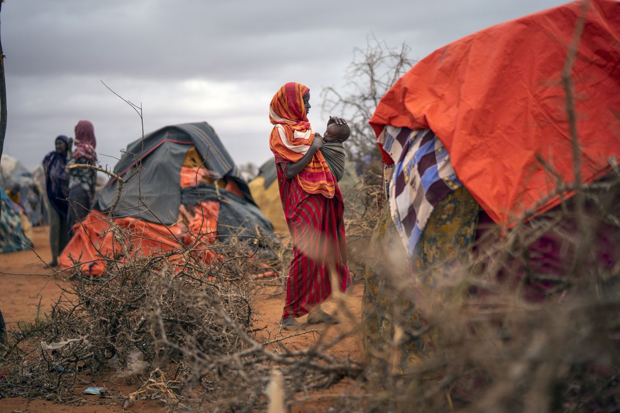
[[[45,191],[50,213],[51,262],[47,264],[50,267],[58,265],[58,255],[69,242],[69,226],[67,225],[69,174],[66,165],[71,141],[66,136],[60,135],[56,137],[55,146],[56,150],[43,158]]]

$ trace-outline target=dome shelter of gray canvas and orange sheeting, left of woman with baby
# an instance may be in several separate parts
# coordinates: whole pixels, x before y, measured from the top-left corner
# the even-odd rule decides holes
[[[97,191],[92,213],[74,226],[60,257],[62,267],[79,259],[99,275],[103,257],[119,245],[111,228],[130,234],[136,254],[193,246],[208,261],[206,246],[232,236],[273,233],[215,130],[206,122],[165,127],[127,146],[117,177]],[[122,184],[121,184],[122,181]]]

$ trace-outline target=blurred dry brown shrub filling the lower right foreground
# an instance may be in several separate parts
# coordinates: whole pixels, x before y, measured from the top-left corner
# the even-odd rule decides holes
[[[583,215],[572,199],[503,236],[497,228],[467,262],[442,263],[445,277],[436,277],[437,269],[411,277],[384,255],[379,288],[394,304],[384,314],[392,337],[367,349],[363,396],[343,410],[616,411],[620,266],[601,260],[605,247],[594,234],[606,226],[618,254],[620,175],[583,190]],[[590,238],[578,231],[578,220]],[[531,257],[533,242],[550,231],[568,245],[559,275]],[[587,253],[572,265],[580,248]],[[407,318],[398,300],[415,304],[423,321]],[[411,351],[406,344],[418,339],[432,345]]]

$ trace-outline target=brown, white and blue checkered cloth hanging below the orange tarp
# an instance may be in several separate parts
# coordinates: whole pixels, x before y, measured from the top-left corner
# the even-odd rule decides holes
[[[394,161],[390,211],[401,241],[412,255],[433,209],[463,184],[452,169],[448,151],[433,131],[388,125],[377,141]]]

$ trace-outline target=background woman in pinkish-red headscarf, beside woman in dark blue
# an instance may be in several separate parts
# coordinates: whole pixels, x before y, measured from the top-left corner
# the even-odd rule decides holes
[[[97,140],[95,128],[87,120],[81,120],[76,125],[75,149],[73,156],[67,163],[68,166],[75,164],[97,164]],[[69,229],[83,220],[91,211],[92,201],[95,196],[95,184],[97,171],[87,167],[69,169]]]

